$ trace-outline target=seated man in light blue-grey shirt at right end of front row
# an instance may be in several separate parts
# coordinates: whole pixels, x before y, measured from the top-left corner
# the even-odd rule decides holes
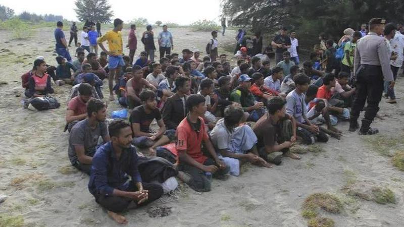
[[[309,88],[310,78],[304,73],[297,74],[294,78],[294,84],[296,89],[286,96],[286,112],[296,120],[297,135],[302,138],[305,144],[314,144],[316,140],[327,142],[328,136],[307,118],[308,108],[306,107],[305,92]]]

